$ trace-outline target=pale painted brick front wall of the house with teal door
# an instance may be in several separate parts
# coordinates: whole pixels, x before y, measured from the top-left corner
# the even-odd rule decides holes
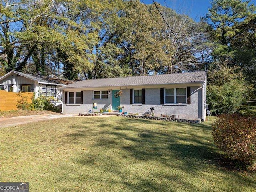
[[[130,104],[130,89],[122,89],[123,95],[121,96],[120,105],[125,106],[124,111],[128,113],[139,113],[144,114],[151,107],[155,108],[155,115],[178,115],[179,118],[186,119],[198,119],[202,118],[202,87],[192,86],[191,87],[191,104],[183,105],[164,105],[160,104],[160,88],[146,88],[145,89],[145,104],[133,105]],[[112,91],[111,91],[112,92]],[[108,99],[97,100],[92,99],[92,90],[84,91],[84,104],[72,105],[64,104],[64,113],[84,113],[92,110],[92,105],[97,102],[97,109],[94,111],[99,111],[100,108],[110,108],[111,107],[112,95],[108,96]],[[65,98],[64,98],[65,100]]]

